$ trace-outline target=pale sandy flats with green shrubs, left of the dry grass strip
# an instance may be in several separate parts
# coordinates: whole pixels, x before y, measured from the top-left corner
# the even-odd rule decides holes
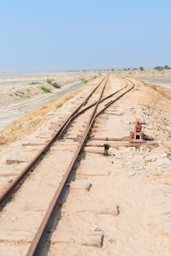
[[[82,83],[83,78],[91,79],[95,75],[93,72],[54,72],[53,74],[16,75],[14,78],[0,76],[0,130],[20,116],[69,91],[73,85]],[[47,83],[47,79],[58,83],[61,89],[51,86]],[[47,89],[49,92],[46,93],[42,89]]]

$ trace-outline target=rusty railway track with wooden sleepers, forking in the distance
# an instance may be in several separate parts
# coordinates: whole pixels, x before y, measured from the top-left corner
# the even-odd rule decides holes
[[[23,255],[37,255],[37,248],[45,233],[47,223],[53,214],[54,208],[59,207],[58,200],[88,139],[96,117],[134,88],[134,84],[128,80],[126,86],[122,89],[114,91],[112,94],[107,94],[108,79],[108,77],[104,78],[95,87],[77,110],[64,122],[64,125],[56,132],[56,135],[42,148],[39,154],[34,157],[20,176],[10,184],[0,197],[0,202],[4,203],[14,190],[16,192],[15,186],[18,186],[18,183],[26,176],[26,173],[30,172],[32,167],[36,168],[36,172],[34,171],[31,177],[28,176],[26,179],[25,186],[21,186],[15,193],[14,200],[9,203],[9,206],[7,204],[7,212],[4,209],[1,214],[2,219],[3,217],[8,219],[12,211],[16,219],[15,222],[7,226],[7,233],[5,233],[7,237],[12,230],[15,230],[16,226],[20,227],[24,219],[27,217],[30,219],[32,217],[31,214],[37,219],[36,227],[33,223],[31,227],[24,223],[22,229],[29,230],[29,232],[23,234],[20,228],[15,232],[16,236],[12,242],[20,243],[20,241],[23,241]],[[76,132],[77,135],[75,136]],[[42,158],[42,154],[45,154],[46,157],[40,162],[39,159]],[[37,167],[35,167],[36,164]],[[32,189],[31,185],[35,183],[37,187]],[[45,193],[45,188],[47,188],[47,193]],[[34,198],[30,198],[28,196],[29,193],[30,195],[35,195]],[[42,198],[42,195],[44,198]],[[3,225],[0,225],[0,228],[3,229]],[[5,236],[1,238],[2,243],[6,243],[7,240]],[[29,248],[28,244],[30,244]]]

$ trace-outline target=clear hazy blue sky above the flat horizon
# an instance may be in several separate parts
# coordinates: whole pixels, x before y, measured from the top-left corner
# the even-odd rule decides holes
[[[170,0],[1,0],[0,72],[171,65]]]

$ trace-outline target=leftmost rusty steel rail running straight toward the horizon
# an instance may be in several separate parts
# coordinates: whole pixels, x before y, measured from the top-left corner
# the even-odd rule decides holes
[[[72,112],[72,114],[66,118],[66,121],[64,121],[64,124],[58,129],[58,131],[55,133],[55,135],[53,135],[52,138],[50,138],[50,140],[45,144],[45,146],[43,146],[38,153],[34,156],[33,159],[31,159],[31,162],[28,163],[28,165],[26,165],[26,167],[23,168],[23,170],[21,171],[21,173],[9,184],[9,186],[4,190],[4,192],[1,193],[0,195],[0,207],[3,205],[4,201],[7,200],[7,198],[9,197],[9,195],[11,194],[11,192],[15,189],[15,187],[18,186],[18,184],[20,183],[20,181],[26,176],[26,174],[31,170],[31,168],[34,167],[34,165],[39,161],[40,157],[42,156],[43,153],[45,153],[45,151],[47,151],[47,149],[53,145],[54,141],[58,138],[58,135],[61,134],[61,131],[64,129],[64,127],[66,126],[66,124],[68,125],[71,121],[72,121],[72,116],[75,115],[75,113],[77,113],[78,110],[80,110],[80,108],[83,107],[83,105],[86,104],[86,102],[88,101],[88,99],[94,94],[94,91],[96,91],[96,89],[99,88],[99,86],[103,83],[103,81],[107,78],[107,76],[105,76],[104,78],[102,78],[102,80],[98,83],[98,85],[94,88],[93,91],[91,91],[90,94],[88,94],[88,97],[86,97],[86,99],[83,100],[83,102],[76,108],[75,111]]]

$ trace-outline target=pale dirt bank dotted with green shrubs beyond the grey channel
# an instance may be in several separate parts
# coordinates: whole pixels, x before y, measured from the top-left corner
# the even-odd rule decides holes
[[[22,102],[33,97],[41,97],[57,91],[58,87],[81,82],[83,79],[94,77],[95,73],[54,73],[50,75],[34,75],[15,78],[0,77],[0,106]],[[57,86],[58,84],[58,86]]]

